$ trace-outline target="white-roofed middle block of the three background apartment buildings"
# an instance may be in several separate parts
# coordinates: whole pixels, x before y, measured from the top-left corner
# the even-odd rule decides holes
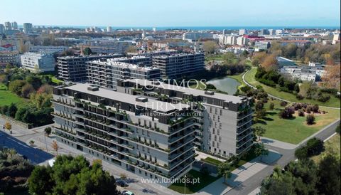
[[[116,89],[117,81],[126,78],[160,78],[160,68],[122,63],[120,58],[98,59],[87,62],[87,83]],[[129,59],[129,58],[128,58]]]

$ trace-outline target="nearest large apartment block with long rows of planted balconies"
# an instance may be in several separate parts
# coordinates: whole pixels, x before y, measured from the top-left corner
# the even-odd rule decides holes
[[[195,161],[190,105],[80,83],[55,87],[53,107],[58,142],[134,174],[178,178]]]

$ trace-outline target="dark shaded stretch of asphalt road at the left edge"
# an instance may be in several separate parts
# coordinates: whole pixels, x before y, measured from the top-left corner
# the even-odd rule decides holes
[[[2,130],[0,130],[0,147],[16,149],[18,154],[26,156],[33,164],[39,164],[53,158],[52,154],[28,146],[25,142],[21,142],[19,139],[16,139],[16,137],[12,137],[11,135],[2,132]]]

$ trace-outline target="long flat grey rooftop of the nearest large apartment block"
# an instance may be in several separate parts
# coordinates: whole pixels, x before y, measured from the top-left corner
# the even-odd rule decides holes
[[[147,101],[140,101],[139,96],[130,95],[126,93],[119,93],[113,90],[107,90],[105,88],[99,88],[98,90],[88,90],[88,88],[93,87],[93,85],[88,83],[77,83],[75,85],[69,85],[65,88],[70,90],[76,90],[82,93],[87,93],[90,95],[97,95],[99,97],[109,98],[112,100],[117,100],[120,102],[128,102],[133,105],[147,107],[152,110],[158,110],[161,112],[169,112],[172,110],[183,110],[190,107],[190,105],[186,105],[184,103],[173,104],[169,102],[162,102],[158,100],[153,100],[148,98]]]

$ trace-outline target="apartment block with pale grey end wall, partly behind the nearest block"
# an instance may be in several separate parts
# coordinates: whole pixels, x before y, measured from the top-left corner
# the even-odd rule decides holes
[[[202,151],[230,157],[246,152],[253,144],[251,97],[138,79],[119,80],[117,92],[192,105],[195,146]]]

